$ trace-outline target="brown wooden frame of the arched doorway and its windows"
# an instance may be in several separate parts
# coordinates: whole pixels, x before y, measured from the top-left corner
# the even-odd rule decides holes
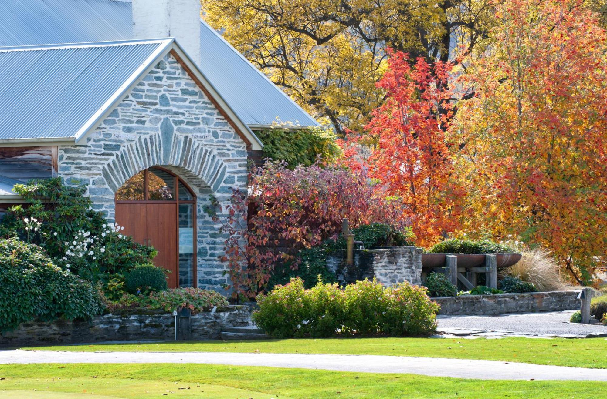
[[[149,198],[149,192],[148,192],[149,169],[162,170],[163,172],[169,173],[169,175],[173,176],[174,200],[147,200],[147,198]],[[194,243],[192,243],[192,246],[193,246],[192,255],[194,255],[194,259],[193,259],[194,264],[192,265],[194,270],[192,270],[192,279],[194,280],[194,287],[198,288],[198,228],[197,228],[198,227],[198,220],[197,220],[198,197],[196,196],[196,194],[194,193],[194,190],[192,190],[192,188],[189,186],[188,183],[183,181],[183,179],[181,179],[178,175],[176,175],[175,172],[172,172],[169,169],[166,169],[161,166],[151,166],[147,169],[141,170],[140,172],[143,172],[143,198],[144,199],[138,200],[138,201],[130,201],[130,200],[123,201],[123,200],[117,200],[116,197],[114,196],[114,203],[115,204],[175,204],[176,211],[177,211],[177,212],[175,212],[175,217],[177,218],[177,232],[175,232],[175,239],[177,240],[177,251],[175,254],[175,257],[177,257],[177,260],[176,260],[177,261],[177,287],[179,287],[179,204],[180,203],[181,204],[192,204],[192,225],[193,225],[193,229],[194,229],[192,231],[192,240],[194,240]],[[126,182],[124,182],[124,183],[126,183]],[[186,189],[188,190],[188,192],[190,193],[192,198],[194,198],[193,200],[179,201],[179,183],[183,184],[183,186],[186,187]]]

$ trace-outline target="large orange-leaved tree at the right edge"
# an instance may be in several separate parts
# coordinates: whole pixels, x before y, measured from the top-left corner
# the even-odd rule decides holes
[[[506,0],[496,17],[451,131],[466,229],[550,247],[588,283],[607,247],[607,36],[582,1]]]

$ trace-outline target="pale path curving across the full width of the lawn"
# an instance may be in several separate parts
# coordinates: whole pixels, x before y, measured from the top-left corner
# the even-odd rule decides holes
[[[205,363],[335,371],[421,374],[483,380],[607,381],[606,369],[543,366],[488,360],[461,360],[375,355],[245,354],[220,352],[55,352],[4,350],[8,363]]]

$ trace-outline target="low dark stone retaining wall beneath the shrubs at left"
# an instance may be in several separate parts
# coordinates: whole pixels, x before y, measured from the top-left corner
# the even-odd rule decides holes
[[[177,319],[179,340],[218,340],[222,329],[247,326],[251,312],[248,306],[230,305]],[[129,309],[91,321],[31,321],[2,334],[0,347],[141,340],[175,340],[175,317],[163,310]]]

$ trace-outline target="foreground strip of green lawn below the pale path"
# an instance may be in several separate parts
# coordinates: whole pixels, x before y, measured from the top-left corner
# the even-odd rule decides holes
[[[0,366],[0,379],[0,396],[8,398],[70,397],[57,392],[78,398],[599,398],[607,392],[607,383],[599,382],[460,380],[208,364],[10,364]]]

